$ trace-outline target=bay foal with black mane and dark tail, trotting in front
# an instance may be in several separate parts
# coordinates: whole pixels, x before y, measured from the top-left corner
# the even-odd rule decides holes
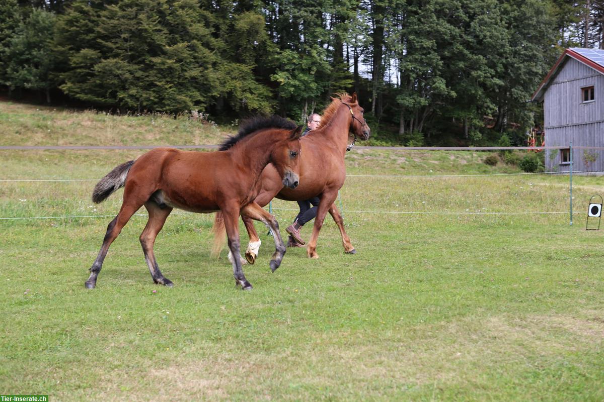
[[[97,183],[92,193],[95,203],[123,186],[124,200],[120,212],[107,227],[101,250],[90,268],[88,289],[96,286],[109,245],[143,205],[149,212],[149,221],[140,240],[155,283],[173,286],[159,271],[153,254],[155,237],[173,208],[199,213],[220,210],[233,255],[239,255],[239,215],[262,221],[275,233],[275,254],[270,266],[273,272],[278,268],[286,248],[277,220],[254,203],[256,184],[265,166],[271,163],[277,169],[280,183],[292,189],[298,186],[300,128],[276,116],[253,119],[242,125],[237,136],[227,139],[220,149],[189,152],[155,148],[137,160],[117,166]],[[233,274],[242,289],[252,288],[239,259],[233,261]]]

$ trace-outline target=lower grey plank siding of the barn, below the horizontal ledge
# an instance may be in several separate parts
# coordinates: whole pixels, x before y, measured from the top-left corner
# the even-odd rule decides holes
[[[604,122],[582,124],[545,130],[547,146],[604,146]],[[545,149],[545,170],[568,172],[569,165],[561,165],[557,149]],[[593,160],[595,159],[595,160]],[[573,171],[604,172],[604,151],[596,149],[573,149]]]

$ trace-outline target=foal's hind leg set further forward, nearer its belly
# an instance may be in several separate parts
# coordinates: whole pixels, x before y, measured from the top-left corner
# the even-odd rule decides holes
[[[154,201],[147,201],[147,203],[145,203],[145,208],[149,211],[149,221],[147,221],[147,225],[145,226],[143,233],[141,233],[140,240],[141,246],[143,246],[143,253],[145,254],[145,261],[147,262],[147,266],[149,266],[149,272],[151,272],[153,282],[165,286],[174,286],[172,281],[164,277],[161,271],[159,271],[155,253],[153,253],[155,238],[161,228],[164,227],[165,219],[168,218],[168,215],[172,212],[172,208],[164,207],[164,209],[161,209]]]

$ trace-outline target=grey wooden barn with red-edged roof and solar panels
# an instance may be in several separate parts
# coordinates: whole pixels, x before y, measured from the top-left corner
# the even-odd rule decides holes
[[[543,102],[546,146],[573,144],[573,171],[604,172],[604,50],[568,48],[551,68],[533,101]],[[570,169],[569,148],[545,150],[545,169]]]

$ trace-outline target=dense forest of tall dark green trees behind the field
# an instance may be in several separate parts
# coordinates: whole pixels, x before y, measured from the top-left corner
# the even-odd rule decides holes
[[[556,58],[603,36],[596,0],[0,0],[0,86],[217,122],[357,92],[390,143],[521,145]]]

